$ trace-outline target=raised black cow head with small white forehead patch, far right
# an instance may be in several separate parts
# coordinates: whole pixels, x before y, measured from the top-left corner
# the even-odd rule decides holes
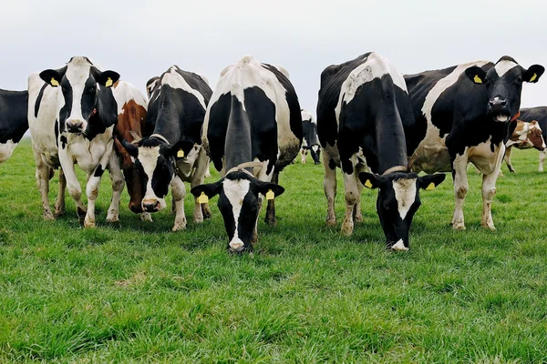
[[[538,82],[544,71],[539,65],[525,69],[510,56],[502,56],[488,72],[471,66],[465,74],[475,84],[486,87],[488,115],[494,121],[507,122],[519,113],[522,82]]]

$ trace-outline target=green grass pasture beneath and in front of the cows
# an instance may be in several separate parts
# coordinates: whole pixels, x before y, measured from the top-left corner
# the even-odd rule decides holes
[[[216,198],[211,220],[172,233],[169,212],[140,222],[124,192],[121,223],[108,225],[108,177],[97,228],[78,226],[68,196],[67,215],[43,221],[25,140],[0,167],[0,362],[545,362],[537,159],[518,151],[519,173],[503,167],[496,232],[480,227],[473,169],[467,231],[449,227],[451,177],[423,191],[404,254],[385,248],[376,191],[365,189],[364,222],[342,237],[340,178],[339,223],[325,227],[323,167],[296,164],[280,177],[278,226],[262,211],[254,254],[232,256]],[[57,176],[51,185],[53,203]]]

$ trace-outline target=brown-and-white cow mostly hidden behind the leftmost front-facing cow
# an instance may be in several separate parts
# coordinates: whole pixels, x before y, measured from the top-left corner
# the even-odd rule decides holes
[[[140,213],[143,220],[151,221],[150,213],[144,212],[141,205],[144,186],[139,177],[139,170],[120,142],[125,139],[132,143],[142,137],[148,102],[137,87],[124,81],[118,81],[112,86],[112,94],[118,105],[118,124],[114,128],[114,150],[118,155],[119,166],[128,186],[129,209],[136,214]]]

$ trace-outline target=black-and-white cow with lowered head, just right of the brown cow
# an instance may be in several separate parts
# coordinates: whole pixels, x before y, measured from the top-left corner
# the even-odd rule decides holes
[[[191,187],[203,183],[208,157],[201,148],[201,126],[205,109],[212,95],[211,88],[199,75],[170,66],[160,78],[147,83],[150,96],[147,125],[154,126],[150,136],[136,145],[123,140],[123,147],[136,158],[142,184],[145,186],[141,202],[146,212],[157,212],[167,206],[165,196],[171,187],[176,217],[173,231],[186,228],[184,215],[184,182]],[[196,200],[195,222],[210,217],[207,204]]]

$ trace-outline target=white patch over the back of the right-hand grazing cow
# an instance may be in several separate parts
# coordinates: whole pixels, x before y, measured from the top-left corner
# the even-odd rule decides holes
[[[408,93],[407,84],[405,79],[401,76],[397,69],[391,65],[391,62],[383,56],[379,56],[376,53],[371,53],[363,63],[351,71],[347,76],[346,81],[340,88],[340,96],[338,98],[338,104],[335,107],[336,122],[340,123],[340,112],[342,110],[342,103],[348,104],[356,96],[356,91],[359,86],[372,81],[375,78],[381,78],[384,75],[390,75],[393,83],[401,90]]]

